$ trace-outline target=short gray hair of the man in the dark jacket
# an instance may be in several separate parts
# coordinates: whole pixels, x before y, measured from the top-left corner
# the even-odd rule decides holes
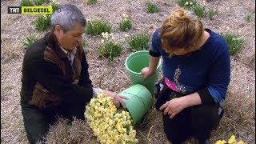
[[[75,22],[79,22],[82,26],[86,26],[86,18],[77,6],[66,4],[58,6],[58,9],[51,15],[50,24],[52,29],[56,25],[60,25],[64,32],[72,30]]]

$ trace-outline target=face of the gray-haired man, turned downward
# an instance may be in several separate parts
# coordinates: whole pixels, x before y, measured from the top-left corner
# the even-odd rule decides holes
[[[60,26],[59,26],[60,27]],[[64,31],[58,26],[55,26],[54,34],[58,39],[58,43],[66,50],[73,50],[76,46],[82,43],[82,34],[84,33],[85,27],[80,23],[75,22],[72,30]]]

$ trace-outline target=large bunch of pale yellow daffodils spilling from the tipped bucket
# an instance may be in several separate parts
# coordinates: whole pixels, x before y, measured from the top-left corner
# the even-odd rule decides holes
[[[90,100],[86,118],[101,143],[138,143],[129,112],[118,110],[105,94]]]

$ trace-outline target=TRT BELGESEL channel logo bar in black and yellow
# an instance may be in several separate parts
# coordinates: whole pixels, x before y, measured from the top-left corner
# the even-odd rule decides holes
[[[52,6],[8,6],[8,14],[52,14]]]

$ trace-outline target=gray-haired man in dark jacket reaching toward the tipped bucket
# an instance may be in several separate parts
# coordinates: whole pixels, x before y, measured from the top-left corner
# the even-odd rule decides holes
[[[95,93],[106,93],[116,106],[123,105],[124,97],[91,84],[81,45],[86,26],[82,12],[74,5],[60,6],[51,16],[51,26],[23,60],[21,105],[30,143],[41,141],[57,116],[85,119],[86,102]]]

